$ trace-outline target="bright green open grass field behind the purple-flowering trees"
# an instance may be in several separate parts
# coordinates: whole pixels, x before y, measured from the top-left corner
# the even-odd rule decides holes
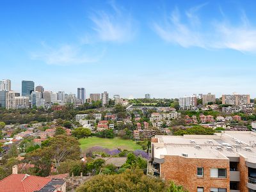
[[[91,137],[80,139],[79,143],[81,144],[80,147],[83,151],[86,151],[88,148],[95,146],[100,146],[109,149],[121,148],[123,150],[141,149],[140,145],[136,144],[136,141],[122,140],[121,138],[106,139]]]

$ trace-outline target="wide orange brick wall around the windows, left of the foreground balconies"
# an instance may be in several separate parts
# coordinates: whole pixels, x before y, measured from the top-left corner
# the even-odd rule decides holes
[[[204,177],[197,177],[197,168],[204,168]],[[227,168],[227,179],[211,178],[211,168]],[[182,156],[165,156],[161,164],[161,177],[173,180],[184,186],[188,191],[196,191],[197,187],[204,187],[204,191],[211,188],[227,188],[229,192],[230,174],[228,159],[194,159]]]

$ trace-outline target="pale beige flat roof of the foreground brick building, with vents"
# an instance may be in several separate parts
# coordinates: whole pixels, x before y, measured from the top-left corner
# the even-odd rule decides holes
[[[256,163],[256,132],[223,131],[214,135],[155,136],[154,157],[186,156],[204,159],[228,159],[244,156]],[[182,155],[183,154],[183,155]]]

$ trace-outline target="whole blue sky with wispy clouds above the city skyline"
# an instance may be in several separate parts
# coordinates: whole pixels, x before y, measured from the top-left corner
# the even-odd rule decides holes
[[[0,1],[0,79],[122,97],[256,97],[256,1]]]

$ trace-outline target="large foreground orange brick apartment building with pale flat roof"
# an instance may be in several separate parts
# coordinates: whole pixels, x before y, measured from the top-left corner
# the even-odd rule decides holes
[[[188,191],[256,191],[256,133],[155,136],[149,175],[173,180]]]

